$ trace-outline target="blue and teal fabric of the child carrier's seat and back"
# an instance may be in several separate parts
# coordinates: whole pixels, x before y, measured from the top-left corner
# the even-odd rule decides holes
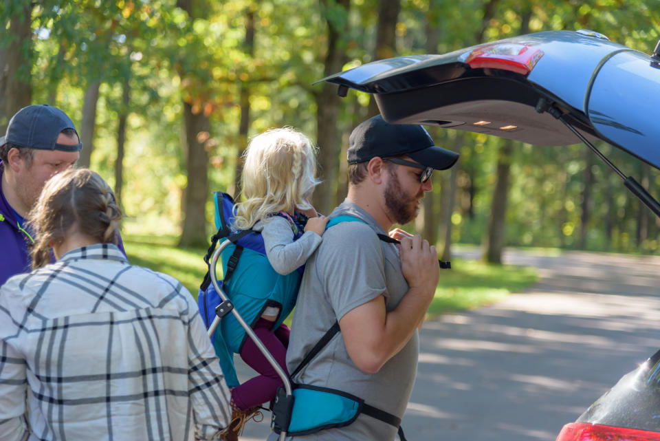
[[[216,244],[231,241],[220,253],[223,280],[218,281],[221,289],[234,303],[234,308],[251,327],[268,306],[276,306],[280,313],[274,322],[279,327],[292,312],[298,297],[301,272],[289,275],[278,274],[266,257],[261,233],[253,230],[236,231],[230,226],[234,221],[234,200],[227,193],[216,192],[213,195],[215,205],[215,225],[218,233],[213,235],[212,245],[205,257],[208,263]],[[199,288],[197,305],[206,324],[210,327],[215,318],[215,307],[221,299],[210,283],[207,274]],[[220,321],[211,341],[220,358],[220,366],[229,387],[239,385],[234,369],[234,356],[241,352],[241,347],[248,338],[241,323],[233,314],[228,314]]]

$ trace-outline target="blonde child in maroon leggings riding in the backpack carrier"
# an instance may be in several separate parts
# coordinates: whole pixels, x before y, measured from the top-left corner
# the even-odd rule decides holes
[[[234,226],[261,231],[271,266],[281,275],[299,270],[321,242],[328,218],[309,204],[316,180],[315,148],[293,129],[271,129],[256,136],[243,156],[243,202],[236,204]],[[268,306],[254,332],[286,372],[289,327],[273,329],[279,308]],[[282,381],[248,338],[241,358],[259,376],[232,389],[232,424],[226,440],[237,437],[259,405],[275,397]]]

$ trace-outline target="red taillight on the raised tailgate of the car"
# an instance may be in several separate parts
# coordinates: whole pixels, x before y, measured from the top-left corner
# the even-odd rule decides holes
[[[526,75],[542,56],[542,50],[523,43],[496,43],[473,50],[465,63],[473,69],[492,67]]]

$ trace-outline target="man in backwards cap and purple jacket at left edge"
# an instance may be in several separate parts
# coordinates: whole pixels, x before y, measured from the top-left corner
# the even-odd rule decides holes
[[[73,166],[82,144],[71,119],[48,105],[23,107],[0,138],[0,285],[30,270],[23,224],[45,182]]]

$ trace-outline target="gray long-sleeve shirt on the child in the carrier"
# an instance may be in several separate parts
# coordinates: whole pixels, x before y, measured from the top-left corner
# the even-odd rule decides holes
[[[300,239],[294,241],[291,224],[281,216],[272,216],[263,222],[257,222],[253,229],[261,230],[268,261],[281,275],[287,275],[303,266],[322,240],[313,231],[306,231]]]

